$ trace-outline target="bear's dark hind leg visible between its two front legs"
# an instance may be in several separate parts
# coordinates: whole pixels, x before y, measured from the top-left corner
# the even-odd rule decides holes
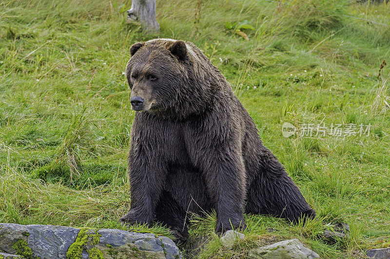
[[[176,237],[176,244],[181,244],[188,239],[186,212],[167,191],[161,192],[156,206],[155,220],[166,224],[171,229]]]

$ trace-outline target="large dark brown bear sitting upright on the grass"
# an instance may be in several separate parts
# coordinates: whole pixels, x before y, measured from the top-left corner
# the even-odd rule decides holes
[[[134,111],[124,224],[167,225],[188,238],[188,213],[213,210],[215,231],[245,229],[244,213],[290,222],[315,217],[258,135],[226,78],[193,43],[137,42],[126,78]]]

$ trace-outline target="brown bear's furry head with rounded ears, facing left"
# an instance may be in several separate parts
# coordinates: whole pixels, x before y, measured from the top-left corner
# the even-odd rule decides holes
[[[183,118],[210,106],[215,80],[207,67],[214,66],[195,45],[153,39],[135,43],[130,54],[126,77],[133,110]]]

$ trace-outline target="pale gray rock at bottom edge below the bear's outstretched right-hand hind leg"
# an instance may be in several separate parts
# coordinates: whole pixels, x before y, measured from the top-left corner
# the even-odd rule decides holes
[[[320,258],[314,251],[306,248],[297,239],[284,240],[249,251],[249,257],[254,259],[316,259]]]

